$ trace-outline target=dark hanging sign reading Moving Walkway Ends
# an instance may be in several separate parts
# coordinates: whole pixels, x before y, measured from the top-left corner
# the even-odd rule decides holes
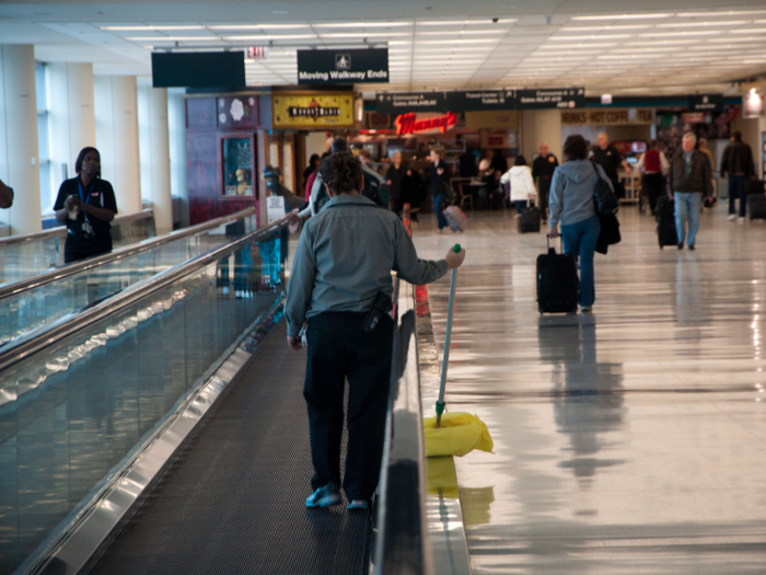
[[[298,50],[299,84],[388,83],[388,48]]]

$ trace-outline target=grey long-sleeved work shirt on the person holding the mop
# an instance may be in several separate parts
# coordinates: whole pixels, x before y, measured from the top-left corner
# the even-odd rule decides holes
[[[285,303],[288,335],[320,313],[370,310],[379,291],[393,294],[392,269],[422,285],[446,274],[446,262],[418,260],[393,211],[359,195],[334,197],[298,242]]]

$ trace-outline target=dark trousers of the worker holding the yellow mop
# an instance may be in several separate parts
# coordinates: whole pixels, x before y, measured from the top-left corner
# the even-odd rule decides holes
[[[362,333],[367,313],[322,313],[309,321],[309,357],[303,396],[309,407],[314,490],[340,485],[344,388],[348,379],[346,497],[372,497],[381,474],[388,406],[394,322],[384,315]]]

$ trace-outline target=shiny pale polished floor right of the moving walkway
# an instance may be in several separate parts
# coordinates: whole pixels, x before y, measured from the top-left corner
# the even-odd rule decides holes
[[[590,315],[537,313],[545,227],[414,230],[420,257],[468,251],[446,401],[496,446],[455,462],[475,575],[766,573],[766,221],[706,211],[678,252],[619,217]],[[440,347],[449,277],[429,289]]]

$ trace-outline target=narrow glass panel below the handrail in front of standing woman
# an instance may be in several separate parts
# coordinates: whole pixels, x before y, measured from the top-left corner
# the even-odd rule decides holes
[[[0,299],[3,344],[257,229],[255,214]],[[2,250],[0,250],[2,253]]]

